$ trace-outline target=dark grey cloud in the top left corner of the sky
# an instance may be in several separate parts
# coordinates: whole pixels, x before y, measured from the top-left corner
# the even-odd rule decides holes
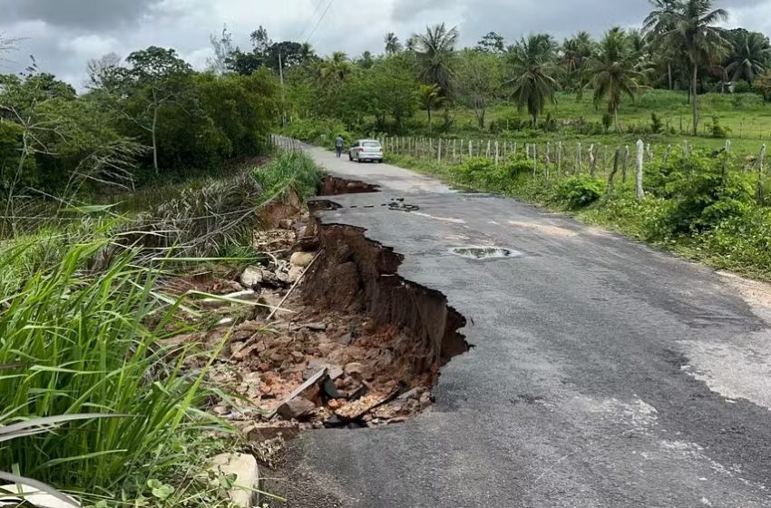
[[[0,0],[5,22],[43,21],[91,30],[138,21],[161,0]]]

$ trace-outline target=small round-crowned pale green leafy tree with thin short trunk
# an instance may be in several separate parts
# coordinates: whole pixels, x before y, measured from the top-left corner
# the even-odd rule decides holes
[[[487,107],[503,82],[500,59],[492,53],[464,49],[456,65],[455,90],[473,109],[479,128],[484,129]]]

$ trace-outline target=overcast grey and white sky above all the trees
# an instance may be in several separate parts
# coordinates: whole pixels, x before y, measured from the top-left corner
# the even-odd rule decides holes
[[[718,3],[731,25],[771,34],[771,0]],[[308,40],[320,54],[356,55],[381,52],[387,32],[404,40],[443,21],[458,25],[462,42],[472,45],[491,30],[507,41],[542,31],[600,34],[613,24],[639,24],[648,11],[648,0],[0,0],[0,33],[22,39],[0,72],[24,68],[34,54],[42,70],[79,87],[89,59],[149,45],[174,47],[202,68],[210,34],[225,24],[242,47],[262,24],[274,41]]]

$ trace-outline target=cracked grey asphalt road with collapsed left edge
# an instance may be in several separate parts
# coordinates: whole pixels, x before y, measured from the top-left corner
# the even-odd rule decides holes
[[[400,274],[442,291],[476,347],[414,421],[296,441],[290,506],[771,506],[766,286],[514,200],[310,153],[383,190],[337,197],[322,219],[404,254]],[[420,210],[364,208],[391,197]],[[450,253],[464,245],[522,256]]]

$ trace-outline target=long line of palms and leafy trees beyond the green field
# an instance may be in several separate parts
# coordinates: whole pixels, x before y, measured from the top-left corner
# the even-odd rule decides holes
[[[351,59],[344,53],[319,58],[307,44],[272,43],[263,28],[254,47],[223,54],[229,72],[250,73],[267,66],[287,83],[293,118],[335,118],[349,129],[399,131],[418,109],[429,129],[437,113],[452,124],[458,105],[476,113],[480,128],[496,101],[513,101],[536,124],[556,93],[591,93],[619,128],[622,103],[646,88],[705,92],[755,90],[771,98],[771,44],[764,34],[719,28],[727,13],[714,0],[652,0],[639,29],[610,28],[600,40],[580,32],[562,42],[531,34],[509,44],[485,34],[461,48],[458,31],[445,24],[426,27],[402,41],[385,34],[383,53]],[[225,39],[229,40],[229,36]],[[698,100],[693,132],[698,132]],[[372,120],[374,119],[374,122]]]

